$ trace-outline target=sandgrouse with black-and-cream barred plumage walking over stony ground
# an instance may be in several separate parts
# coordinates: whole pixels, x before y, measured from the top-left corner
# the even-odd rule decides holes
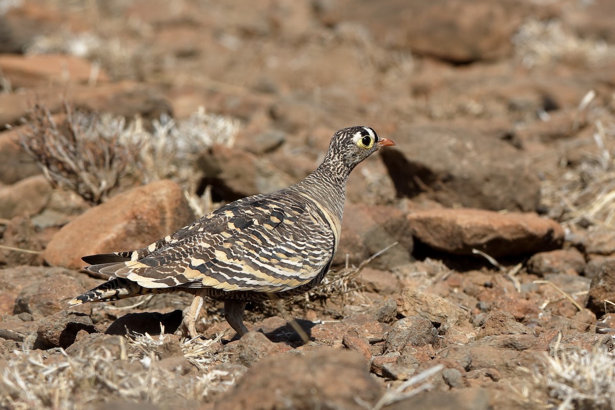
[[[247,333],[247,301],[304,293],[327,274],[338,247],[352,169],[382,146],[395,145],[370,127],[339,130],[322,164],[303,181],[224,205],[146,248],[85,256],[85,269],[111,278],[69,302],[105,302],[142,294],[194,294],[183,327],[199,336],[204,296],[224,301],[224,318]]]

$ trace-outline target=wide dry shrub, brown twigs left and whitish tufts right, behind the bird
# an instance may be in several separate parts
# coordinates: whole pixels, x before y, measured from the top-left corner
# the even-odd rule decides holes
[[[125,179],[150,183],[168,178],[183,187],[197,213],[207,208],[195,195],[199,152],[213,144],[232,146],[239,130],[237,120],[202,108],[185,120],[162,117],[151,124],[140,117],[127,123],[124,117],[75,109],[68,102],[63,115],[58,125],[49,109],[35,104],[21,135],[24,148],[55,186],[100,203]]]

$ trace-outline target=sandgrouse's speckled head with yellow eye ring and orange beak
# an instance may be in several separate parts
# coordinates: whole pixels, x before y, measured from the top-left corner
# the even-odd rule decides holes
[[[362,160],[383,146],[395,145],[382,138],[370,127],[343,128],[331,138],[325,162],[336,162],[339,166],[352,170]]]

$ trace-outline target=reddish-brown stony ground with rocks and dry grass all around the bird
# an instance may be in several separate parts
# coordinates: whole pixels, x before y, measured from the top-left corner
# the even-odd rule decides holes
[[[0,408],[615,409],[611,0],[0,0]],[[147,246],[395,141],[323,283],[69,309]]]

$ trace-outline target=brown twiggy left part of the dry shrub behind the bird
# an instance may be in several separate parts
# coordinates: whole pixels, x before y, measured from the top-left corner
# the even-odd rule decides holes
[[[100,117],[63,103],[66,119],[57,125],[49,109],[35,104],[28,112],[22,145],[57,187],[86,200],[106,200],[139,154],[138,143],[126,143],[121,117]]]

